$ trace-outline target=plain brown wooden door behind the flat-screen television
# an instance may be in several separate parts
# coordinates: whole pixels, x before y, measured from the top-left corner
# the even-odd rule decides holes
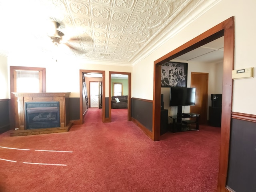
[[[200,114],[199,124],[207,124],[208,73],[191,72],[191,86],[196,88],[196,102],[190,112]]]

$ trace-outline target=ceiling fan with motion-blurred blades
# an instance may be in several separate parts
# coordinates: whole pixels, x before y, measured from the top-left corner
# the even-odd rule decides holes
[[[61,26],[64,27],[64,25],[61,24],[60,22],[52,20],[52,32],[48,33],[48,36],[50,37],[50,39],[52,40],[54,45],[58,46],[59,44],[64,44],[64,45],[68,46],[71,50],[74,50],[76,52],[85,53],[84,50],[80,50],[79,48],[70,45],[72,43],[79,42],[80,41],[79,38],[72,37],[72,38],[69,38],[68,40],[63,40],[64,33],[60,31]],[[90,37],[82,38],[82,40],[84,42],[92,41],[92,39]]]

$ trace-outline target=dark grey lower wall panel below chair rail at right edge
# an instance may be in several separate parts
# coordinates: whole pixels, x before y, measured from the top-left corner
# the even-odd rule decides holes
[[[236,192],[256,191],[255,147],[256,122],[233,118],[230,133],[228,188]]]

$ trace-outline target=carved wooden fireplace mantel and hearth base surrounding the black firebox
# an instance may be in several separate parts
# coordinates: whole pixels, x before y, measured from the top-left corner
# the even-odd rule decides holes
[[[68,96],[70,92],[62,93],[16,93],[18,104],[19,128],[11,133],[11,136],[45,134],[54,132],[66,132],[72,126],[69,120]],[[60,127],[27,129],[25,118],[25,103],[27,102],[59,102],[60,104]]]

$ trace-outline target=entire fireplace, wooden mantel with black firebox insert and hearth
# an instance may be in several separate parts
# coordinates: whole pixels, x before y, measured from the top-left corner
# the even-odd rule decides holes
[[[11,136],[68,132],[69,92],[67,93],[13,93],[17,98],[19,127]]]

